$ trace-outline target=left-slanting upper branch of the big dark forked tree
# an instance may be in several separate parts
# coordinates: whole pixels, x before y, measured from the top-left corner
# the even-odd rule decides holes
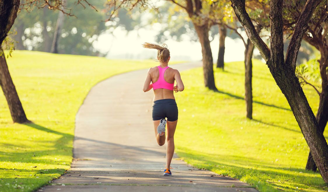
[[[256,29],[251,21],[251,18],[249,17],[248,13],[245,10],[245,1],[244,0],[230,0],[230,1],[231,1],[231,6],[235,10],[236,16],[238,17],[238,20],[246,29],[248,38],[260,51],[260,54],[263,57],[263,59],[265,61],[269,61],[270,49],[256,32]]]

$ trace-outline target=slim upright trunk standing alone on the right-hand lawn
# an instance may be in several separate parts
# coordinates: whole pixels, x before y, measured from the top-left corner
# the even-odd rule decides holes
[[[253,113],[253,94],[252,94],[252,56],[254,44],[251,40],[247,40],[245,48],[245,101],[246,101],[246,117],[252,119]]]

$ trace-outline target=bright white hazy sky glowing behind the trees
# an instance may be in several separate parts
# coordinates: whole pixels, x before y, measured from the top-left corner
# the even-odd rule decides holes
[[[147,26],[138,31],[133,30],[127,33],[120,27],[117,27],[112,34],[102,34],[94,46],[103,53],[108,53],[109,59],[150,59],[156,58],[157,51],[153,49],[145,49],[141,44],[145,42],[155,42],[160,24]],[[168,45],[171,53],[171,61],[199,61],[202,59],[201,46],[199,42],[188,41],[188,37],[184,41],[177,42],[168,40],[164,42]],[[213,60],[216,62],[218,55],[218,36],[211,42]],[[225,41],[225,62],[244,61],[244,45],[240,39],[233,40],[229,37]],[[257,50],[254,50],[255,54]]]

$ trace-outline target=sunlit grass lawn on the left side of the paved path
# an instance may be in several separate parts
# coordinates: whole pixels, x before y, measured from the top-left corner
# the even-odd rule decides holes
[[[157,64],[32,51],[14,51],[7,61],[33,123],[13,124],[0,94],[0,191],[33,191],[62,175],[72,162],[75,114],[90,88]]]

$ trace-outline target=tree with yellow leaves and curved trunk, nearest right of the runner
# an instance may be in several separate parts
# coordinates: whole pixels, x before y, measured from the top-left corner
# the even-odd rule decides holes
[[[212,1],[212,0],[181,0],[179,2],[175,0],[167,0],[175,5],[179,6],[184,10],[190,20],[192,21],[196,34],[198,36],[199,42],[202,47],[203,56],[203,74],[204,74],[204,84],[205,87],[211,90],[217,90],[214,81],[214,71],[213,71],[213,56],[209,40],[209,31],[212,25],[221,24],[216,18],[218,15],[222,14],[220,9],[227,7],[227,1]],[[109,16],[110,20],[113,15],[116,14],[118,9],[127,8],[129,10],[134,9],[137,5],[140,5],[142,9],[154,8],[156,6],[151,4],[149,1],[144,0],[111,0],[108,3],[111,14]]]

